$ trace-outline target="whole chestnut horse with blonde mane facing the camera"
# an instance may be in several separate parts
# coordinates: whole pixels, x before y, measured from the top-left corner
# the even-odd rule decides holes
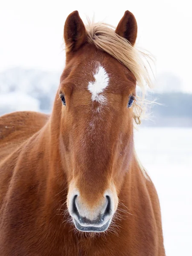
[[[0,117],[1,256],[165,256],[158,195],[134,149],[150,86],[126,11],[116,28],[65,21],[50,115]]]

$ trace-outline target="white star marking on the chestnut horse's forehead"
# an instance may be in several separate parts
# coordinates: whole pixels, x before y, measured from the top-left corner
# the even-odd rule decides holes
[[[96,74],[94,74],[94,79],[95,81],[89,82],[88,84],[88,90],[92,94],[91,99],[93,101],[105,104],[106,98],[104,95],[102,95],[102,93],[108,86],[109,77],[102,66],[98,67]]]

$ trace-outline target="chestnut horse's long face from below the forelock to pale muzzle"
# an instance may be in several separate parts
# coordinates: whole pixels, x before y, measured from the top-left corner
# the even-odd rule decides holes
[[[116,59],[83,38],[81,44],[67,53],[61,76],[61,157],[69,183],[67,207],[76,228],[102,232],[111,223],[129,169],[136,81]]]

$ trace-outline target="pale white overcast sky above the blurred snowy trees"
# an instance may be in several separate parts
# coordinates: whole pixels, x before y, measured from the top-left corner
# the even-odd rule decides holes
[[[189,0],[1,0],[0,71],[9,67],[61,71],[64,67],[63,26],[78,10],[86,22],[116,26],[125,10],[138,23],[137,44],[157,58],[157,74],[169,72],[192,92],[192,15]]]

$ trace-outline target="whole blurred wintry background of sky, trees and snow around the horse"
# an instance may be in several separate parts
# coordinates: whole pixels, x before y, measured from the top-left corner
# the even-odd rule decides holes
[[[0,4],[0,115],[50,113],[64,68],[63,26],[78,10],[116,26],[125,10],[138,24],[137,45],[157,59],[161,105],[135,131],[137,153],[160,197],[167,256],[192,255],[192,16],[189,1],[6,0]]]

